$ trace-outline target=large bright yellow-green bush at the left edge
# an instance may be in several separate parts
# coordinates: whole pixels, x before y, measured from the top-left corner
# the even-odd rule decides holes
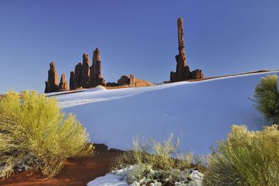
[[[0,177],[27,164],[55,176],[66,157],[92,155],[89,135],[55,99],[34,91],[7,92],[0,100]]]

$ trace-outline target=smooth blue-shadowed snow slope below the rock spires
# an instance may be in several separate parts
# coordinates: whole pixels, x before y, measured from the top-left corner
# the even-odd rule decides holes
[[[77,115],[94,143],[126,150],[135,136],[163,141],[172,132],[181,138],[181,150],[206,155],[232,124],[260,128],[262,117],[249,98],[266,74],[118,90],[97,87],[55,97],[65,112]]]

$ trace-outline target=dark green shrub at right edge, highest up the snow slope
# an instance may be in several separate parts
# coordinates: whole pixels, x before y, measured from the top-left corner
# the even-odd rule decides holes
[[[278,76],[269,75],[259,80],[255,89],[254,105],[272,124],[279,124]]]

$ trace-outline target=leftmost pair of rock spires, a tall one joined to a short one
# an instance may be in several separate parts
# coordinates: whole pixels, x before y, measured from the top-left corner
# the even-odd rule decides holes
[[[48,78],[45,82],[45,93],[59,92],[69,90],[65,73],[62,73],[60,83],[58,84],[58,73],[56,71],[55,62],[50,63]]]

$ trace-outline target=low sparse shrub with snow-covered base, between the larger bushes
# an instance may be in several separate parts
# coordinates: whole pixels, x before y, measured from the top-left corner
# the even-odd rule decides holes
[[[133,150],[119,155],[113,169],[128,169],[126,178],[130,184],[190,183],[191,173],[196,169],[202,170],[202,166],[195,163],[202,161],[192,152],[179,152],[178,145],[179,138],[174,140],[173,134],[163,143],[152,139],[140,142],[135,138]]]

